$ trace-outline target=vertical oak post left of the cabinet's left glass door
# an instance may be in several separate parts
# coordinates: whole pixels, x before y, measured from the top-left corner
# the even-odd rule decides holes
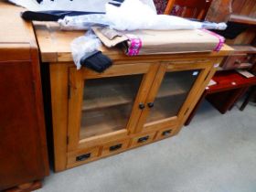
[[[51,63],[50,90],[55,171],[66,169],[68,127],[68,65]]]

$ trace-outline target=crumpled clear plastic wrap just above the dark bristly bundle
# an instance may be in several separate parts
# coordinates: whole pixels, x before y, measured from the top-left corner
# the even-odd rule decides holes
[[[77,69],[81,68],[80,59],[84,54],[101,47],[100,39],[89,30],[84,36],[77,37],[71,42],[71,52]]]

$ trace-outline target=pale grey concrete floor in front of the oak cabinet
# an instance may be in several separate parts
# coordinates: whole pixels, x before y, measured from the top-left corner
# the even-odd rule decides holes
[[[45,179],[38,192],[256,192],[256,107],[208,102],[177,136]]]

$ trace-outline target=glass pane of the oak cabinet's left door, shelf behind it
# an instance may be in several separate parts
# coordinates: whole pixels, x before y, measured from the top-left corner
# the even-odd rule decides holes
[[[85,80],[80,140],[126,128],[143,76]]]

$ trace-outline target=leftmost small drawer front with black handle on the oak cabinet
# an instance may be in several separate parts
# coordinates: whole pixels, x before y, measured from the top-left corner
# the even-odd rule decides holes
[[[68,155],[68,166],[80,165],[92,161],[99,156],[100,147],[72,152]]]

